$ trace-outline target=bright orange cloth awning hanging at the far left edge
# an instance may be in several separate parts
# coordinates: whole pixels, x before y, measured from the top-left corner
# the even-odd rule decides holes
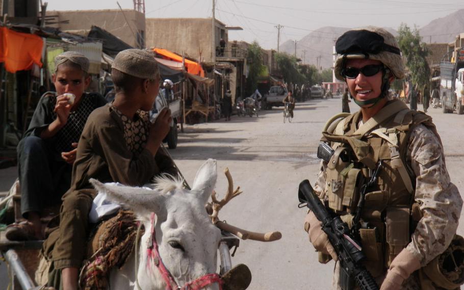
[[[43,40],[37,35],[0,27],[0,62],[5,62],[5,69],[13,74],[31,69],[34,63],[42,66],[42,47]]]

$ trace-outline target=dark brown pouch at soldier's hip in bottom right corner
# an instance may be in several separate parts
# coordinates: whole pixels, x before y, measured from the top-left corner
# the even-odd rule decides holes
[[[419,276],[421,288],[424,290],[436,289],[436,286],[449,290],[458,289],[464,284],[464,238],[454,235],[445,252],[434,258],[420,272],[427,276]],[[430,285],[430,281],[434,285]]]

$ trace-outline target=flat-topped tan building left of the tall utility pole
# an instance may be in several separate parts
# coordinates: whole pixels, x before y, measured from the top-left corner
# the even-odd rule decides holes
[[[211,62],[212,50],[211,18],[147,18],[146,46],[159,47],[178,54],[186,53],[201,62]],[[227,42],[225,25],[216,21],[216,46],[219,46],[223,31]],[[227,45],[227,44],[226,44]]]

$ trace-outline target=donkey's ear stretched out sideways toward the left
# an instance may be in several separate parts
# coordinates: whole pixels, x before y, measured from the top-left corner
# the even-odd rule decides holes
[[[90,183],[98,191],[105,192],[108,199],[132,209],[137,215],[155,212],[160,215],[165,209],[165,196],[160,192],[140,187],[104,184],[95,179]]]

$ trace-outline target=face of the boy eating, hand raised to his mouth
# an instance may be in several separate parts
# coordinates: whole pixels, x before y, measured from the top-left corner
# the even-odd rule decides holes
[[[90,84],[90,77],[85,78],[84,71],[66,65],[59,65],[52,79],[58,95],[73,93],[76,96],[74,104],[79,102],[85,89]]]

